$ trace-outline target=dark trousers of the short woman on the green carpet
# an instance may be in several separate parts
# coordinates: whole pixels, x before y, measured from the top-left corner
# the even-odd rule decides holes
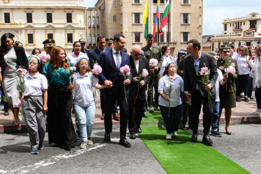
[[[163,116],[163,120],[165,122],[167,134],[177,131],[179,129],[179,122],[182,117],[182,104],[176,107],[170,107],[170,116],[168,106],[159,106],[161,109],[161,115]]]

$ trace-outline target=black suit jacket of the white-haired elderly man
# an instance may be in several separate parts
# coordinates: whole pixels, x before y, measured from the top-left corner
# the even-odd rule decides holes
[[[136,67],[135,67],[135,63],[133,61],[133,57],[130,56],[130,66],[131,66],[131,74],[132,77],[137,77],[139,76],[139,74],[142,74],[142,70],[146,69],[149,72],[149,61],[147,58],[141,57],[139,60],[139,70],[137,72]],[[147,77],[145,77],[144,79],[142,78],[142,80],[145,81],[145,85],[142,88],[139,88],[139,93],[138,96],[140,98],[140,100],[146,100],[146,95],[145,95],[145,86],[147,84],[149,84],[149,80],[151,79],[151,75],[149,74]],[[139,84],[140,85],[140,84]],[[131,81],[131,84],[129,86],[130,88],[130,101],[134,102],[135,97],[137,95],[137,83]]]

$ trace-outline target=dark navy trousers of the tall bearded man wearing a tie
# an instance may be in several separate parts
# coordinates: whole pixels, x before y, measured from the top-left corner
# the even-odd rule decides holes
[[[105,125],[105,133],[110,134],[112,132],[112,113],[115,102],[119,105],[119,110],[121,112],[120,119],[120,138],[126,139],[127,132],[127,124],[128,124],[128,94],[104,94],[105,100],[105,116],[104,116],[104,125]],[[126,102],[127,98],[127,102]]]

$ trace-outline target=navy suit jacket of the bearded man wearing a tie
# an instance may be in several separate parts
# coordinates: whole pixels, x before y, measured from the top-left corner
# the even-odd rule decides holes
[[[103,52],[100,54],[100,60],[98,61],[98,64],[101,68],[103,68],[103,72],[101,72],[98,76],[100,78],[100,83],[104,84],[105,80],[112,81],[112,88],[104,88],[103,92],[104,94],[124,94],[124,77],[121,75],[121,72],[117,69],[116,63],[114,61],[113,55],[112,55],[112,49]],[[121,66],[124,65],[130,66],[130,56],[126,54],[125,52],[121,51]],[[130,73],[129,76],[130,81],[132,81],[132,75]],[[125,86],[126,93],[129,93],[129,85]]]

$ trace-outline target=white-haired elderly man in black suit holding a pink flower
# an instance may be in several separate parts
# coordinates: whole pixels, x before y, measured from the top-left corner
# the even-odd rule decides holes
[[[133,45],[130,49],[130,72],[133,76],[133,83],[130,84],[130,107],[128,111],[128,130],[130,132],[130,139],[135,139],[136,132],[142,132],[140,123],[142,121],[146,100],[145,85],[149,84],[151,78],[150,74],[148,74],[145,78],[141,78],[140,80],[137,79],[137,77],[142,74],[143,69],[146,69],[149,72],[149,60],[142,57],[141,51],[140,45]]]

